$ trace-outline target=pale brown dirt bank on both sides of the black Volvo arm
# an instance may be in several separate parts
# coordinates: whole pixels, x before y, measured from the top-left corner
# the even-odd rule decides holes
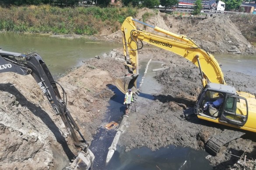
[[[109,85],[123,75],[115,50],[96,57],[58,80],[67,93],[67,108],[88,142],[115,95]],[[5,73],[0,82],[0,169],[67,167],[77,150],[32,76]]]

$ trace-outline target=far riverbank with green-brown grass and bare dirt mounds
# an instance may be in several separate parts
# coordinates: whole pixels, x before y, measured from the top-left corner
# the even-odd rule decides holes
[[[154,19],[164,20],[158,21]],[[256,19],[254,15],[235,14],[235,15],[214,15],[215,17],[223,16],[227,18],[225,21],[220,20],[208,20],[203,23],[209,17],[194,16],[191,17],[185,13],[183,15],[177,13],[163,13],[161,14],[158,9],[148,10],[147,8],[139,9],[137,7],[53,7],[50,5],[41,6],[24,6],[24,7],[0,7],[0,32],[16,32],[16,33],[32,33],[32,34],[52,34],[65,37],[65,34],[72,34],[74,37],[77,35],[93,35],[93,36],[106,36],[110,34],[116,34],[119,31],[123,20],[128,17],[136,17],[138,20],[147,22],[147,24],[157,25],[158,27],[170,30],[176,34],[185,34],[189,37],[196,37],[200,39],[209,39],[209,41],[215,41],[223,38],[225,44],[232,44],[233,47],[230,50],[236,50],[235,47],[243,47],[243,44],[237,42],[243,41],[237,39],[237,35],[234,38],[226,35],[222,35],[221,32],[229,32],[229,34],[242,34],[243,37],[255,45],[256,34],[253,21]],[[218,18],[217,17],[217,18]],[[153,19],[154,18],[154,19]],[[173,20],[175,18],[175,20]],[[229,23],[227,23],[229,22]],[[164,24],[167,27],[162,27]],[[214,24],[213,24],[214,23]],[[204,24],[203,29],[196,29],[198,24]],[[224,27],[228,25],[229,27]],[[246,27],[245,27],[246,26]],[[189,29],[195,27],[193,29]],[[238,29],[237,29],[238,28]],[[200,32],[202,34],[195,34]],[[190,33],[193,33],[190,35]],[[207,37],[204,37],[207,35]],[[217,40],[217,41],[216,41]],[[237,41],[238,40],[238,41]],[[115,40],[120,41],[120,40]],[[237,41],[237,42],[236,42]],[[207,41],[203,42],[205,48],[208,48]],[[216,44],[221,47],[222,44]],[[241,47],[241,48],[242,48]],[[249,47],[250,45],[245,45]],[[223,53],[226,51],[219,51],[218,48],[211,50],[215,53]],[[239,53],[239,51],[238,51]],[[250,53],[250,51],[247,51]]]

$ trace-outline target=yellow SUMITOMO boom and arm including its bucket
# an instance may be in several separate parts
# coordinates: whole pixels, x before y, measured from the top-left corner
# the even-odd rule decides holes
[[[151,27],[154,31],[162,33],[165,36],[140,30],[136,28],[135,22]],[[124,65],[128,71],[127,76],[116,81],[120,91],[125,93],[127,89],[132,86],[137,88],[138,50],[142,48],[139,47],[138,41],[144,41],[148,44],[171,51],[193,62],[193,64],[200,68],[203,87],[205,87],[208,82],[225,84],[224,75],[214,56],[185,35],[165,31],[159,27],[154,27],[139,20],[135,20],[132,17],[126,18],[122,24],[121,31],[123,33],[123,53],[126,59]]]

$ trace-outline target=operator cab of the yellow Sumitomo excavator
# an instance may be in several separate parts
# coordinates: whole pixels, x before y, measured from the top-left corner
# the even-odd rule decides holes
[[[222,97],[223,103],[214,106],[213,102]],[[205,109],[207,103],[210,106]],[[247,122],[248,103],[245,98],[236,94],[235,88],[229,85],[208,83],[197,99],[195,114],[200,119],[239,127]]]

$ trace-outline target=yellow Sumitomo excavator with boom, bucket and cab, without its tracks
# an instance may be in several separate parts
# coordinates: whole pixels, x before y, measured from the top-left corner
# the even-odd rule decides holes
[[[151,27],[164,36],[153,34],[136,27],[136,23],[144,27]],[[199,69],[203,89],[195,105],[195,114],[199,119],[219,123],[226,126],[256,132],[256,97],[247,92],[238,92],[234,87],[226,85],[220,65],[212,54],[198,46],[192,39],[185,35],[174,34],[159,27],[154,27],[127,17],[121,31],[123,33],[123,53],[127,74],[116,80],[116,86],[123,93],[127,89],[137,89],[138,50],[139,41],[152,44],[167,51],[182,56],[193,62]],[[140,45],[141,46],[141,45]],[[133,91],[134,91],[133,90]],[[209,107],[205,110],[207,102],[223,98],[223,103],[218,108]]]

